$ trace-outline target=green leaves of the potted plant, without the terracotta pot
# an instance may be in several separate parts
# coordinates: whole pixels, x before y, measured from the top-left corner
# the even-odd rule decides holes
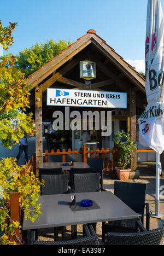
[[[122,141],[126,142],[123,143]],[[136,149],[136,144],[134,144],[134,142],[131,140],[130,134],[124,131],[116,133],[114,142],[117,147],[116,151],[119,154],[118,165],[125,170],[126,166],[130,164],[131,156]]]

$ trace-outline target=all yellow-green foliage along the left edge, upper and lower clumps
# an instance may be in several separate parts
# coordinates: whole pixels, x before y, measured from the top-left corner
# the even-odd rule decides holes
[[[8,50],[14,43],[12,31],[15,26],[16,23],[10,22],[10,26],[3,27],[0,21],[0,44],[4,50]],[[30,136],[36,131],[32,114],[24,113],[29,107],[30,86],[25,83],[24,74],[15,67],[15,60],[12,54],[0,58],[0,140],[3,146],[9,148],[24,137],[24,131]],[[19,192],[19,206],[25,212],[26,218],[34,221],[40,213],[37,200],[41,183],[27,166],[18,166],[15,160],[7,158],[0,162],[0,189],[3,190],[3,197],[0,200],[0,230],[3,232],[3,245],[21,243],[15,234],[15,229],[21,228],[20,223],[10,218],[6,206],[10,191]],[[33,207],[32,212],[30,205]],[[14,238],[14,242],[11,237]]]

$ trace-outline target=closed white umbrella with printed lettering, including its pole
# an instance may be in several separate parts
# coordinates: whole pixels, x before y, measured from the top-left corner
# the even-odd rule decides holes
[[[148,0],[145,66],[148,106],[138,119],[139,142],[156,151],[155,218],[160,215],[160,154],[164,150],[164,18],[160,0]]]

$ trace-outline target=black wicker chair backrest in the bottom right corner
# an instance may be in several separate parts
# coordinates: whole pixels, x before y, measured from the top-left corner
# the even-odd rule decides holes
[[[139,233],[107,233],[107,245],[160,245],[163,228]]]

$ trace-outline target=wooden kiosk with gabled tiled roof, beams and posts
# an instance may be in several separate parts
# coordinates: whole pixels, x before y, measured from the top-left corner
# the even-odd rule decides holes
[[[79,75],[79,62],[83,60],[96,63],[96,78],[92,79],[91,90],[127,92],[127,112],[124,119],[127,121],[127,131],[131,133],[132,141],[136,142],[137,118],[147,105],[145,79],[99,37],[95,30],[89,30],[26,79],[26,82],[32,85],[30,105],[38,129],[37,168],[43,162],[42,123],[51,119],[54,112],[54,107],[46,106],[46,89],[87,90],[84,79]],[[99,141],[101,142],[101,137]],[[131,161],[131,169],[136,170],[136,166],[135,154]]]

